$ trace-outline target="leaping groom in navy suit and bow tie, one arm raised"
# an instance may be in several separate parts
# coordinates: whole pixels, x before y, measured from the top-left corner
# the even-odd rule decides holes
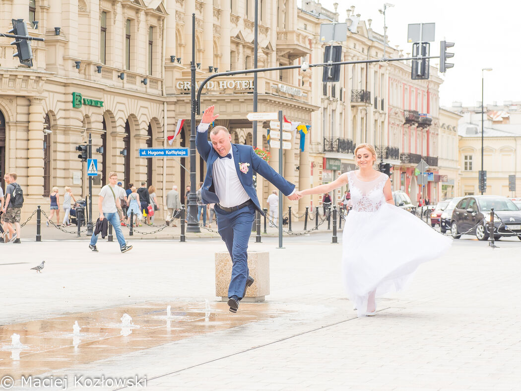
[[[254,172],[269,180],[290,200],[300,197],[295,192],[295,185],[282,178],[250,145],[232,144],[231,135],[224,126],[213,128],[211,141],[208,141],[208,127],[219,117],[214,115],[214,110],[212,105],[203,113],[195,145],[206,162],[201,196],[204,203],[215,203],[219,235],[232,259],[228,306],[235,313],[246,288],[253,284],[248,271],[247,249],[255,210],[264,215],[253,186]]]

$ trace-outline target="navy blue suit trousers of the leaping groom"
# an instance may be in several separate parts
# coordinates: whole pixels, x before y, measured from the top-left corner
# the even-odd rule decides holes
[[[226,212],[215,205],[215,213],[219,227],[219,235],[226,243],[232,259],[231,282],[228,297],[237,296],[242,299],[248,271],[248,241],[252,233],[255,219],[255,205],[244,206],[233,212]]]

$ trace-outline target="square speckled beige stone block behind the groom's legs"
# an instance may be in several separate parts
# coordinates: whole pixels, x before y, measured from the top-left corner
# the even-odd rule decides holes
[[[231,265],[228,251],[215,253],[215,296],[220,296],[222,301],[228,301]],[[255,281],[246,289],[246,296],[242,301],[264,301],[265,296],[269,295],[269,252],[248,251],[248,268]]]

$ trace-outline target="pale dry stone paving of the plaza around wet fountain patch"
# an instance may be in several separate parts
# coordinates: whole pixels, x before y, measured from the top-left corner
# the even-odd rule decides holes
[[[67,375],[67,389],[120,388],[81,387],[85,378],[102,375],[146,376],[151,390],[521,389],[521,242],[501,240],[493,250],[470,238],[454,241],[449,253],[419,268],[408,290],[382,298],[377,316],[361,319],[345,299],[341,244],[331,244],[329,234],[285,239],[284,249],[276,248],[276,238],[252,242],[250,249],[270,252],[271,294],[265,303],[241,304],[235,316],[243,322],[122,354],[100,351],[57,370],[36,365],[34,373]],[[220,240],[133,244],[126,254],[103,241],[97,254],[72,240],[0,248],[0,325],[60,315],[72,320],[122,306],[203,307],[205,299],[222,307],[214,296]],[[42,274],[29,270],[43,259]],[[252,316],[266,310],[269,316]],[[120,343],[135,344],[137,335]],[[0,340],[0,346],[8,343]],[[0,357],[2,377],[16,363]],[[47,357],[60,359],[58,353]],[[75,375],[83,376],[77,384]],[[15,389],[38,388],[18,383]]]

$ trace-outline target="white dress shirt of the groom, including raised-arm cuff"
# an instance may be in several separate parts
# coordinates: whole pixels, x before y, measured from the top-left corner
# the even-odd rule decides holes
[[[210,124],[199,124],[198,132],[208,130]],[[213,148],[213,147],[212,147]],[[240,205],[250,199],[250,196],[244,190],[241,184],[237,170],[235,169],[235,161],[233,160],[233,151],[227,152],[231,155],[231,159],[224,157],[217,158],[213,164],[213,178],[215,193],[219,198],[219,205],[224,207],[233,207]]]

